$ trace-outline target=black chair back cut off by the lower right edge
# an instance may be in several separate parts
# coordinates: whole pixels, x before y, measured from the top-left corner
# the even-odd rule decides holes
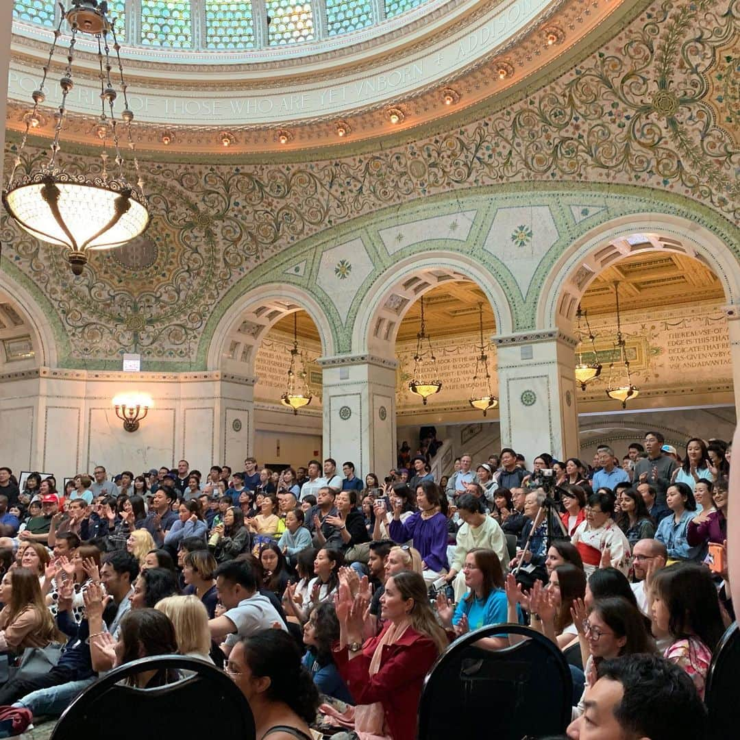
[[[707,671],[704,702],[709,710],[710,738],[735,737],[740,727],[740,630],[733,622],[719,641]]]

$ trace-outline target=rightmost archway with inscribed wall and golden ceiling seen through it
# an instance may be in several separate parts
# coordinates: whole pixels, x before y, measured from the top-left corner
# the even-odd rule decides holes
[[[549,291],[538,306],[540,326],[577,333],[580,305],[596,337],[583,349],[586,361],[602,364],[602,374],[576,391],[582,448],[611,440],[619,452],[633,428],[641,435],[666,430],[670,437],[693,417],[699,436],[713,436],[713,425],[729,428],[738,373],[732,341],[740,300],[736,255],[678,218],[610,223],[589,236],[548,275]],[[605,392],[626,383],[622,358],[613,351],[616,286],[630,380],[639,388],[627,408]]]

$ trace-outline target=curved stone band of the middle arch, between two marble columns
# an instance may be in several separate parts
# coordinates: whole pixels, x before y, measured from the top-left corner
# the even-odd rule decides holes
[[[394,358],[396,335],[409,306],[448,280],[477,283],[491,304],[497,334],[511,332],[511,306],[485,266],[456,252],[417,253],[394,263],[369,287],[354,319],[352,354]]]

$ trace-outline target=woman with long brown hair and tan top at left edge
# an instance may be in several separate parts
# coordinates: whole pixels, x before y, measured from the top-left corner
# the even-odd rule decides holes
[[[0,584],[0,650],[46,647],[64,642],[41,594],[38,576],[28,568],[7,571]]]

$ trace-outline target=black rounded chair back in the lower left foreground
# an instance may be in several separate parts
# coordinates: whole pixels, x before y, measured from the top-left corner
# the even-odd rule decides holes
[[[153,688],[126,685],[143,671],[179,671],[183,678]],[[226,721],[223,721],[226,718]],[[90,684],[64,710],[50,740],[255,740],[249,702],[236,684],[210,663],[184,656],[135,660]]]

